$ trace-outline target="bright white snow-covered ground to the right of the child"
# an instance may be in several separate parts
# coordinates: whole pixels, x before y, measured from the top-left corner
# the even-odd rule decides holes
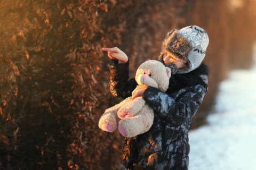
[[[254,63],[251,70],[230,72],[220,83],[215,113],[207,117],[208,124],[189,132],[189,170],[256,169]]]

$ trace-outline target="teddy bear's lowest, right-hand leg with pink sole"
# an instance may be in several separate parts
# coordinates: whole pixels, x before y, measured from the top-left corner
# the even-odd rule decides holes
[[[119,121],[118,130],[124,137],[134,137],[147,132],[154,121],[154,111],[145,105],[140,113],[134,117],[123,118]]]

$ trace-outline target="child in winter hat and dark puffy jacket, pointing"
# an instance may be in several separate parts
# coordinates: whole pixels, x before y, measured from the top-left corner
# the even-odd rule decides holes
[[[150,130],[126,138],[121,158],[127,169],[188,169],[188,129],[207,92],[208,67],[202,63],[209,44],[207,33],[192,25],[167,33],[159,61],[172,70],[169,89],[137,87],[129,79],[129,59],[117,47],[103,48],[111,59],[111,93],[125,99],[142,96],[154,109]]]

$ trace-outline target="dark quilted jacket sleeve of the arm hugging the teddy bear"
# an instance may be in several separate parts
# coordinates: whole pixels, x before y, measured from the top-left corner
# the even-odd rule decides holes
[[[206,89],[201,85],[190,86],[175,93],[174,99],[156,88],[148,87],[143,98],[165,122],[181,125],[195,115],[205,92]]]

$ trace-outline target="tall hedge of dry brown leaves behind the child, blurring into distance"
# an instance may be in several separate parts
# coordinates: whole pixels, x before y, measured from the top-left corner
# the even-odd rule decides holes
[[[156,59],[167,31],[199,25],[210,38],[209,92],[192,128],[211,111],[230,69],[250,67],[253,0],[0,1],[0,169],[121,169],[123,137],[98,120],[119,100],[107,54],[121,48],[131,77]]]

